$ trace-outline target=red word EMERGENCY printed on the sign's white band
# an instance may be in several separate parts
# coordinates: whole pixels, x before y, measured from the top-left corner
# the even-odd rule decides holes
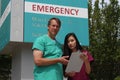
[[[32,4],[32,11],[40,13],[50,13],[50,14],[61,14],[61,15],[74,15],[78,16],[79,9],[62,7],[62,6],[52,6],[52,5],[38,5]]]

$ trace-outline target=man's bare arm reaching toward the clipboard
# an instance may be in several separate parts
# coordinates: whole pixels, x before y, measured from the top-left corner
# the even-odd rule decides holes
[[[66,58],[68,58],[68,56],[63,56],[60,58],[55,58],[55,59],[48,59],[48,58],[43,58],[43,53],[40,50],[33,50],[33,57],[34,57],[34,63],[37,66],[45,66],[45,65],[51,65],[51,64],[55,64],[55,63],[62,63],[62,64],[67,64],[68,60]]]

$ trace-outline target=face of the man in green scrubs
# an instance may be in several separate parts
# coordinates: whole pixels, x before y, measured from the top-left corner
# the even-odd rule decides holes
[[[55,20],[52,20],[50,25],[48,26],[49,35],[55,37],[59,29],[60,29],[59,24]]]

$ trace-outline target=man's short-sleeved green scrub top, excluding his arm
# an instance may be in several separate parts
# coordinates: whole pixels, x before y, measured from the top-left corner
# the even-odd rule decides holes
[[[43,52],[44,58],[58,58],[62,56],[62,46],[56,40],[52,40],[48,35],[43,35],[36,39],[32,49]],[[63,69],[61,63],[49,66],[34,67],[34,80],[63,80]]]

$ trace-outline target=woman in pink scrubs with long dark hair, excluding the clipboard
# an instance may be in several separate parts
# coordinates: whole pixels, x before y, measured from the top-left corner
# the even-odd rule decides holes
[[[64,40],[64,55],[71,56],[75,52],[82,52],[80,58],[83,60],[83,65],[79,72],[65,72],[66,66],[64,66],[64,76],[68,77],[68,80],[89,80],[89,74],[91,72],[90,62],[93,61],[93,57],[87,50],[83,50],[79,41],[74,33],[68,33]]]

